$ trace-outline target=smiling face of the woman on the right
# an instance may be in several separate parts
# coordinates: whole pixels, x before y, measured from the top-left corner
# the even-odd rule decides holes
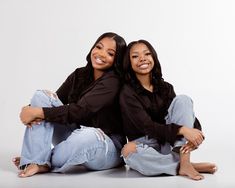
[[[131,67],[135,74],[150,75],[154,60],[148,47],[143,43],[134,44],[130,49]]]

